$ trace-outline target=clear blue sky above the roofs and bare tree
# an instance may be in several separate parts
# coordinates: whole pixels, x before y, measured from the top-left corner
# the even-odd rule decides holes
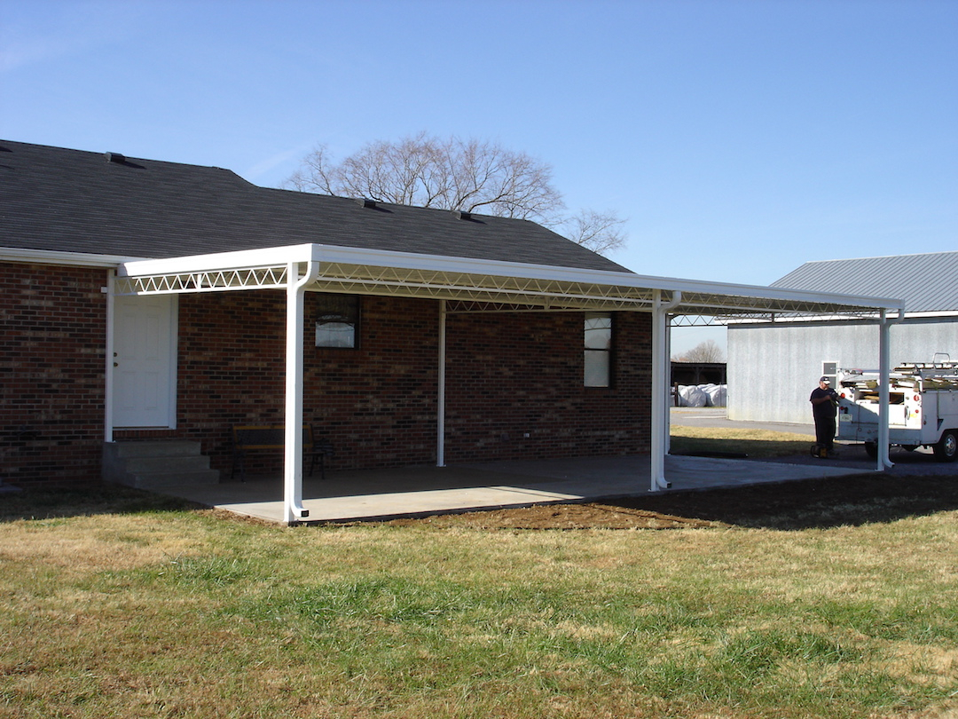
[[[958,248],[954,0],[0,0],[0,137],[278,186],[426,130],[550,164],[651,275]]]

